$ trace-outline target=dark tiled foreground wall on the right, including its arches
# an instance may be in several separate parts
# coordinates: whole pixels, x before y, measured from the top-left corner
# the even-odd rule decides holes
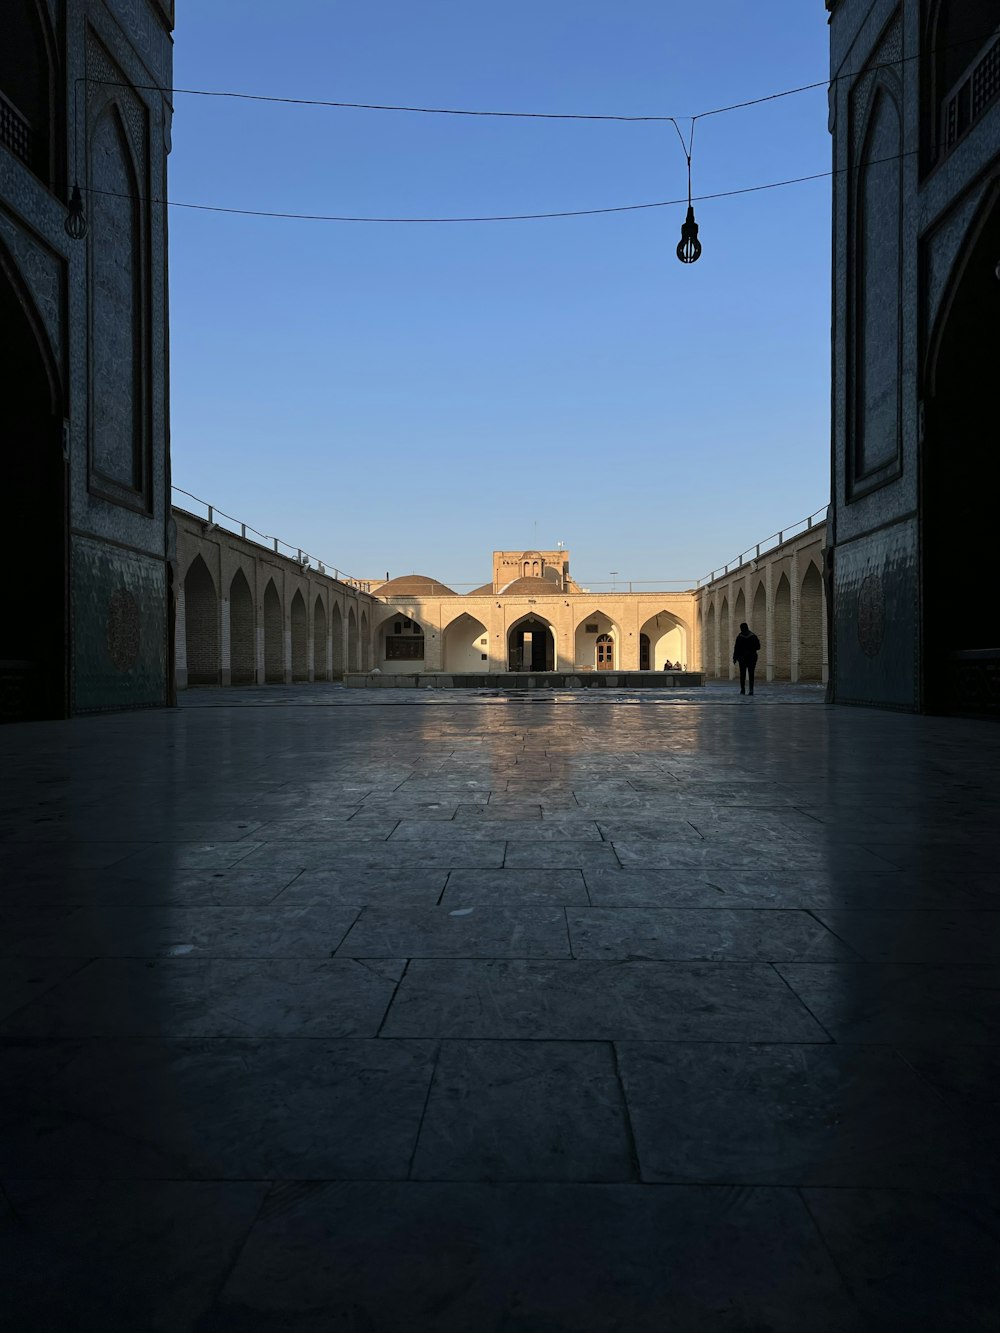
[[[1000,5],[827,0],[832,693],[1000,710]]]

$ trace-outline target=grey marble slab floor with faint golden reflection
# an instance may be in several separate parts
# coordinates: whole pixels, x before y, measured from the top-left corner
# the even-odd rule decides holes
[[[0,732],[4,1328],[996,1333],[1000,730],[821,700]]]

